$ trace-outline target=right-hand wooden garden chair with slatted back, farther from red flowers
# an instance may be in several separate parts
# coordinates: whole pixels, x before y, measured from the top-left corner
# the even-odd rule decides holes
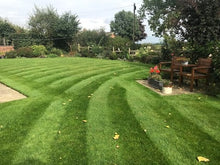
[[[190,91],[193,91],[193,83],[196,80],[196,86],[198,86],[198,79],[206,79],[206,85],[208,85],[208,78],[211,69],[212,59],[199,58],[196,67],[191,68],[191,72],[185,72],[183,70],[184,65],[180,67],[179,84],[181,85],[183,77],[190,79]]]

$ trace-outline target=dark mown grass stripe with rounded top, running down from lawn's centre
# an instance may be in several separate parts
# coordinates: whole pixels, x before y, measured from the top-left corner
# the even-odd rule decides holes
[[[169,164],[133,115],[124,88],[119,85],[113,87],[108,95],[108,106],[111,108],[112,124],[120,134],[119,164]]]

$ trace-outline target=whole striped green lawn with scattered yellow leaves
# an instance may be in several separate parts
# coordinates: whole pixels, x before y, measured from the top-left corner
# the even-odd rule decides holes
[[[135,81],[149,67],[0,60],[0,81],[28,96],[0,104],[0,164],[202,164],[197,156],[219,164],[220,99],[162,97]]]

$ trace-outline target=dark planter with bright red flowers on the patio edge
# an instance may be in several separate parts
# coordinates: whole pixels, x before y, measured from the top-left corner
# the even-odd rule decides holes
[[[162,90],[163,88],[163,82],[160,75],[160,70],[158,69],[158,66],[155,66],[154,68],[150,68],[150,76],[148,77],[148,83],[156,89]]]

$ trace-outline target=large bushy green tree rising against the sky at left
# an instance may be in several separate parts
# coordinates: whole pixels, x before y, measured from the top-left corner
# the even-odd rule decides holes
[[[66,12],[60,16],[52,7],[35,7],[34,14],[29,19],[29,26],[33,37],[42,39],[46,45],[63,49],[71,49],[80,29],[76,15]]]

